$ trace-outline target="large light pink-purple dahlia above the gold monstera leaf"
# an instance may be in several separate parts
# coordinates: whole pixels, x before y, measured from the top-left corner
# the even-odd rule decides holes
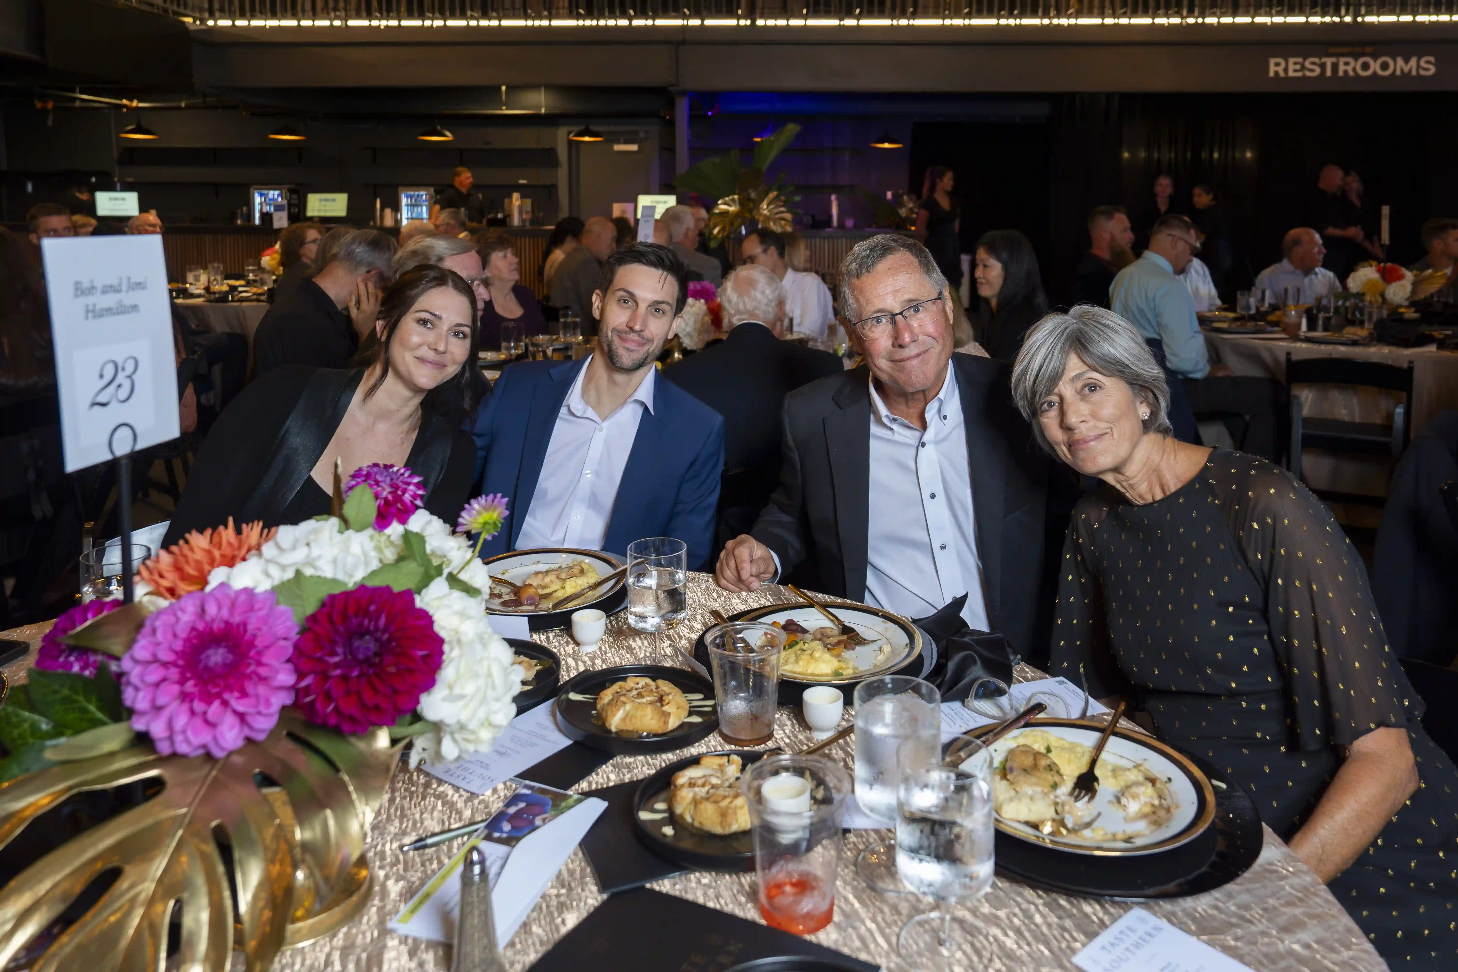
[[[131,727],[163,755],[214,759],[261,740],[293,701],[293,611],[273,592],[184,595],[149,616],[121,659]]]

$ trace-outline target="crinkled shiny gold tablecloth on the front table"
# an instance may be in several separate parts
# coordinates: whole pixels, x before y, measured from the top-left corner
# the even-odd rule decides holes
[[[662,635],[662,651],[688,647],[709,627],[709,611],[790,602],[784,589],[770,586],[752,595],[719,590],[707,574],[691,574],[688,615],[678,630]],[[38,640],[48,625],[31,625],[7,637]],[[608,637],[593,654],[583,654],[566,631],[542,632],[535,640],[553,648],[563,665],[563,679],[583,669],[642,663],[655,656],[653,635],[633,631],[627,615],[608,621]],[[10,666],[7,675],[23,672],[29,662]],[[1038,678],[1019,666],[1018,681]],[[846,718],[850,718],[847,711]],[[786,749],[809,745],[809,730],[795,707],[780,710],[774,743]],[[620,756],[577,787],[579,791],[639,780],[684,755],[719,749],[717,736],[697,746],[662,756]],[[825,755],[850,767],[851,740],[837,743]],[[468,820],[488,816],[507,796],[503,784],[474,796],[424,772],[399,768],[379,816],[370,828],[367,854],[375,874],[375,895],[364,912],[334,936],[278,956],[277,972],[429,972],[451,968],[446,946],[397,936],[389,921],[445,864],[455,844],[402,854],[401,844]],[[911,896],[886,896],[868,889],[856,876],[856,854],[889,831],[851,831],[846,836],[834,922],[812,938],[827,947],[895,969],[897,933],[930,902]],[[652,887],[712,908],[760,921],[754,874],[690,873],[655,882]],[[604,896],[580,850],[573,851],[526,922],[506,946],[507,969],[526,969]],[[1356,924],[1317,876],[1268,829],[1255,867],[1217,890],[1180,901],[1145,902],[1153,914],[1197,936],[1207,944],[1244,962],[1257,972],[1378,972],[1387,965],[1368,944]],[[1002,876],[980,901],[962,905],[964,915],[978,930],[958,943],[958,969],[980,972],[1064,972],[1070,956],[1107,928],[1130,905],[1086,901],[1032,890]],[[652,934],[644,930],[644,934]],[[235,966],[241,968],[239,962]],[[904,966],[903,966],[904,968]],[[656,972],[656,971],[655,971]]]

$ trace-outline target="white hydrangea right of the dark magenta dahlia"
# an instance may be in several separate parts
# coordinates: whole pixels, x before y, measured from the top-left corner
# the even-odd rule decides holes
[[[487,752],[516,716],[512,699],[522,691],[522,670],[512,665],[512,648],[491,631],[484,599],[453,590],[445,577],[433,580],[416,603],[434,619],[445,657],[434,686],[420,697],[420,716],[432,727],[416,736],[410,765]]]

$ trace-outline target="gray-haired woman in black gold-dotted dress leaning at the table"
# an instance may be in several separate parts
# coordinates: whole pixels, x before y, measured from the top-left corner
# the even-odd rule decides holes
[[[1040,321],[1012,389],[1042,447],[1104,482],[1073,512],[1053,673],[1236,780],[1391,968],[1452,957],[1458,774],[1327,509],[1264,459],[1175,440],[1162,369],[1102,307]]]

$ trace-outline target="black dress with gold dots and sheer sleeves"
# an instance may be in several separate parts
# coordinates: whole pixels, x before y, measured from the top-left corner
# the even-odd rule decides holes
[[[1392,969],[1458,968],[1458,772],[1419,724],[1360,557],[1283,469],[1216,449],[1169,495],[1104,487],[1073,512],[1054,675],[1127,694],[1289,839],[1349,746],[1406,727],[1420,785],[1331,882]]]

